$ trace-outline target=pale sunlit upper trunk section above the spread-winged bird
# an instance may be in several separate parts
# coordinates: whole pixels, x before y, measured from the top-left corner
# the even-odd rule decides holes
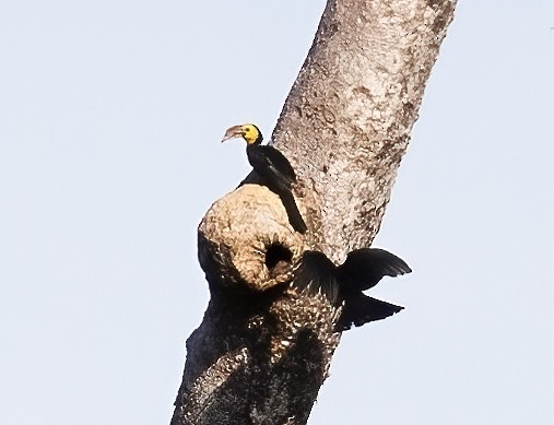
[[[319,206],[320,249],[369,246],[456,1],[329,1],[272,142]]]

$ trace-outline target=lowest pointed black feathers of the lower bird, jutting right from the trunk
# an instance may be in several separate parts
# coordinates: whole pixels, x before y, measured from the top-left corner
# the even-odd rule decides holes
[[[337,328],[339,331],[345,331],[353,324],[359,327],[370,321],[385,319],[403,308],[358,293],[345,299]]]

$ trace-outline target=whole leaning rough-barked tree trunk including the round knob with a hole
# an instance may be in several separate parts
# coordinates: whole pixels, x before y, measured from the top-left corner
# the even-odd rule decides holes
[[[340,307],[290,284],[305,249],[337,262],[379,229],[456,0],[329,0],[272,143],[294,166],[309,231],[243,185],[208,211],[210,284],[187,341],[172,425],[304,424],[340,341]]]

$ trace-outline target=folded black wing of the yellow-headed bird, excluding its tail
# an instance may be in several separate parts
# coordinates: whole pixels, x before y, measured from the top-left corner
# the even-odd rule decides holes
[[[248,162],[254,170],[267,180],[272,190],[291,190],[296,175],[286,157],[273,146],[249,145]]]

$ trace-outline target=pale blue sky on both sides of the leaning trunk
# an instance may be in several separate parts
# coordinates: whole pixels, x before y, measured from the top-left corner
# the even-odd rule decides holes
[[[0,423],[167,424],[248,173],[323,0],[3,0]],[[554,423],[554,2],[461,1],[376,246],[401,314],[347,332],[310,424]]]

